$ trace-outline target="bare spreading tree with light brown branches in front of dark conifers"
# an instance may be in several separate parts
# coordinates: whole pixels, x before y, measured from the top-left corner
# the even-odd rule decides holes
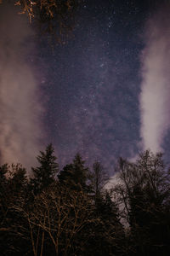
[[[28,223],[34,256],[82,255],[88,240],[84,230],[93,222],[91,207],[86,193],[57,183],[37,195],[31,208],[18,207]]]

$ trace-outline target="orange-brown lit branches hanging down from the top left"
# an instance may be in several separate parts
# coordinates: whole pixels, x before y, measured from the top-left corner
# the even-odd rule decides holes
[[[6,0],[0,0],[0,4]],[[51,34],[58,43],[64,43],[75,24],[81,0],[16,0],[19,14],[26,14],[30,22],[37,22],[42,32]]]

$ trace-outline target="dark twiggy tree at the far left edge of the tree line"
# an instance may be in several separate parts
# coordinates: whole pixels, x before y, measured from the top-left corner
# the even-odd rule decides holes
[[[19,251],[20,253],[26,252],[27,246],[23,237],[19,239],[20,229],[18,227],[22,223],[22,218],[15,211],[19,202],[26,199],[26,169],[17,164],[16,166],[4,165],[1,170],[3,194],[0,198],[0,251],[2,255],[14,255]]]

